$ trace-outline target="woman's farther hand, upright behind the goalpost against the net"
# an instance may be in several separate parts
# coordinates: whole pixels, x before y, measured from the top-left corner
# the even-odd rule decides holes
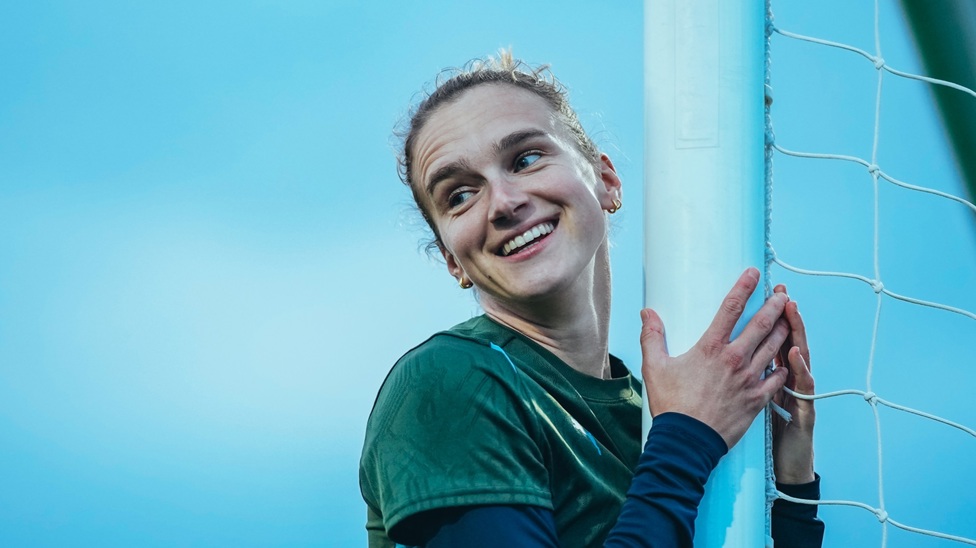
[[[786,286],[777,285],[774,294],[786,295]],[[786,303],[784,310],[790,325],[790,335],[780,353],[776,356],[777,367],[789,371],[786,387],[797,394],[814,394],[813,376],[810,374],[810,348],[807,346],[807,332],[796,302]],[[776,481],[800,484],[814,480],[813,474],[813,423],[816,413],[813,401],[802,400],[780,392],[773,398],[780,407],[793,415],[786,422],[779,415],[773,415],[773,467]]]

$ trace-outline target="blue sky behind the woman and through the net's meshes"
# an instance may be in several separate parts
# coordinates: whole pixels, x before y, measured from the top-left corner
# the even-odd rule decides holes
[[[778,4],[784,28],[873,49],[869,2]],[[884,56],[917,70],[894,8]],[[639,2],[0,8],[0,544],[363,544],[375,392],[400,354],[477,312],[419,251],[391,128],[441,68],[502,46],[552,65],[624,180],[611,342],[635,367]],[[871,64],[781,37],[773,52],[778,142],[869,158]],[[884,93],[882,168],[960,193],[924,88],[886,76]],[[871,275],[866,171],[777,156],[775,177],[781,257]],[[890,186],[880,200],[885,285],[976,310],[973,216]],[[810,326],[819,388],[864,389],[871,289],[773,277]],[[976,424],[973,340],[970,319],[885,300],[874,390]],[[877,505],[869,408],[818,410],[824,495]],[[976,440],[881,419],[892,517],[976,537]],[[880,545],[870,514],[821,515],[828,545]],[[946,543],[890,533],[929,545]]]

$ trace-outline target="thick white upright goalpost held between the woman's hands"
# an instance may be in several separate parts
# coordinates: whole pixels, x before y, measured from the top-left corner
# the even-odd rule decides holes
[[[645,0],[645,305],[672,355],[743,270],[764,271],[765,13],[764,0]],[[736,333],[764,298],[757,289]],[[709,478],[696,546],[768,544],[764,422]]]

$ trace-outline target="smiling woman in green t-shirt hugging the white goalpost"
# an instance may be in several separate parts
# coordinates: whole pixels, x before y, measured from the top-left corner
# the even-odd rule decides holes
[[[747,270],[674,358],[641,312],[654,416],[641,452],[644,388],[608,348],[622,183],[562,87],[506,53],[458,72],[411,117],[401,176],[484,314],[408,352],[380,388],[360,467],[370,546],[690,545],[719,458],[784,384],[813,390],[785,289],[730,340],[759,280]],[[787,367],[762,378],[774,359]],[[817,498],[812,403],[790,406],[780,488]],[[779,545],[819,546],[816,507],[773,515]]]

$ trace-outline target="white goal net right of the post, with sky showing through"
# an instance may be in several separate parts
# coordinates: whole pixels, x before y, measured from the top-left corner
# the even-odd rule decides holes
[[[767,249],[801,309],[823,303],[808,323],[825,544],[976,545],[976,207],[928,86],[976,92],[921,74],[894,2],[810,29],[785,4],[768,26]]]

